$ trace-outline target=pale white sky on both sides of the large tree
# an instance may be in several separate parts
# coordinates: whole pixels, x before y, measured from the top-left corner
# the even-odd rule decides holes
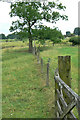
[[[50,0],[48,0],[50,1]],[[59,20],[56,24],[47,24],[50,27],[58,27],[63,34],[66,34],[66,31],[73,33],[74,28],[78,27],[78,2],[80,0],[59,0],[66,6],[66,10],[62,14],[68,16],[68,21]],[[9,15],[10,12],[10,3],[0,1],[0,34],[4,33],[5,35],[10,34],[9,28],[12,21],[16,20],[16,17],[11,18]],[[46,23],[45,23],[46,24]]]

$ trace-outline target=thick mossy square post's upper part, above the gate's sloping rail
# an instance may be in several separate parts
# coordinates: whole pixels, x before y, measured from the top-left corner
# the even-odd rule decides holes
[[[71,87],[71,56],[58,56],[60,78]]]

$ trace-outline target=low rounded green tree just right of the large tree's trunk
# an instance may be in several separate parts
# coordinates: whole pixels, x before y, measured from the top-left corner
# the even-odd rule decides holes
[[[33,38],[36,38],[41,44],[44,44],[45,40],[51,40],[54,44],[60,42],[64,36],[57,28],[51,29],[50,27],[41,25],[39,29],[33,29]]]

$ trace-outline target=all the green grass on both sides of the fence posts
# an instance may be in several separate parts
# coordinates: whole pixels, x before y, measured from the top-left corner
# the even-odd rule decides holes
[[[6,43],[5,43],[6,44]],[[16,43],[15,43],[16,44]],[[22,43],[21,43],[22,44]],[[25,47],[25,45],[24,45]],[[27,47],[3,49],[3,118],[54,118],[54,70],[58,56],[71,55],[72,89],[78,93],[78,47],[55,45],[41,47],[44,74]],[[46,63],[50,60],[50,86],[46,87]]]

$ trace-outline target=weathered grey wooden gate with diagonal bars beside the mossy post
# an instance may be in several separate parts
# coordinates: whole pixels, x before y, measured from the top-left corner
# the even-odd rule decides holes
[[[67,85],[65,82],[61,80],[59,75],[54,76],[55,82],[58,85],[56,88],[56,113],[58,118],[76,118],[75,115],[71,112],[71,110],[76,106],[78,109],[80,97]],[[64,92],[67,95],[66,99],[68,100],[68,104],[64,98]],[[80,114],[80,113],[79,113]]]

